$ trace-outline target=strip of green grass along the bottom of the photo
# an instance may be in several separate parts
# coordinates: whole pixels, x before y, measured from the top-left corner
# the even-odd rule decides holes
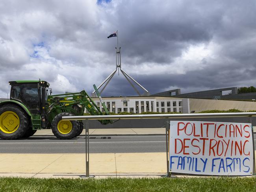
[[[251,192],[256,177],[36,179],[0,177],[0,191]]]

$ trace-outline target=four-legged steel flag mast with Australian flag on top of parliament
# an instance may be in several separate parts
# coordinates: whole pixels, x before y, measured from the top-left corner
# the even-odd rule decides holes
[[[148,92],[147,89],[145,89],[142,85],[140,85],[137,81],[135,81],[134,78],[132,78],[132,77],[131,77],[130,75],[128,75],[124,70],[122,70],[122,68],[121,68],[121,52],[120,52],[121,47],[118,46],[118,30],[117,30],[115,33],[109,35],[109,37],[115,37],[115,36],[117,37],[117,47],[115,48],[115,50],[116,50],[116,68],[115,68],[115,70],[108,76],[108,78],[106,78],[106,79],[97,87],[97,89],[99,90],[100,87],[102,87],[102,86],[105,84],[104,87],[99,91],[100,94],[101,94],[102,91],[107,87],[109,81],[113,78],[113,76],[114,76],[115,73],[117,72],[117,69],[118,69],[118,75],[119,75],[119,69],[120,69],[120,71],[121,71],[121,73],[123,74],[123,76],[126,78],[126,80],[130,83],[130,85],[134,88],[134,90],[137,92],[137,94],[138,94],[139,96],[142,96],[142,95],[143,95],[143,96],[149,96],[150,93]],[[109,38],[109,37],[108,37],[108,38]],[[140,92],[136,89],[136,87],[134,86],[133,83],[135,83],[136,85],[138,85],[138,86],[139,86],[141,89],[143,89],[145,92],[141,95]],[[96,97],[95,91],[92,92],[92,97]]]

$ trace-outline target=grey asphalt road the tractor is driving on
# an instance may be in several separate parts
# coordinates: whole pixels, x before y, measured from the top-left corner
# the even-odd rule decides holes
[[[256,138],[256,133],[254,133]],[[90,153],[165,152],[165,135],[90,136]],[[256,149],[256,139],[254,139]],[[59,140],[54,136],[32,136],[0,140],[0,153],[85,153],[85,137]]]

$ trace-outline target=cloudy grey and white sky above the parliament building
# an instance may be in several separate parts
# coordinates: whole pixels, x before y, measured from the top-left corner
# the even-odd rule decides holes
[[[256,86],[255,0],[1,0],[0,98],[8,81],[93,91],[122,69],[151,94]],[[141,91],[142,93],[143,91]],[[136,92],[116,73],[103,96]]]

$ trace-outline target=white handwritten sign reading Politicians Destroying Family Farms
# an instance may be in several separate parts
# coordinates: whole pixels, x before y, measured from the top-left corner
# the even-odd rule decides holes
[[[171,121],[171,172],[202,175],[252,175],[251,124]]]

